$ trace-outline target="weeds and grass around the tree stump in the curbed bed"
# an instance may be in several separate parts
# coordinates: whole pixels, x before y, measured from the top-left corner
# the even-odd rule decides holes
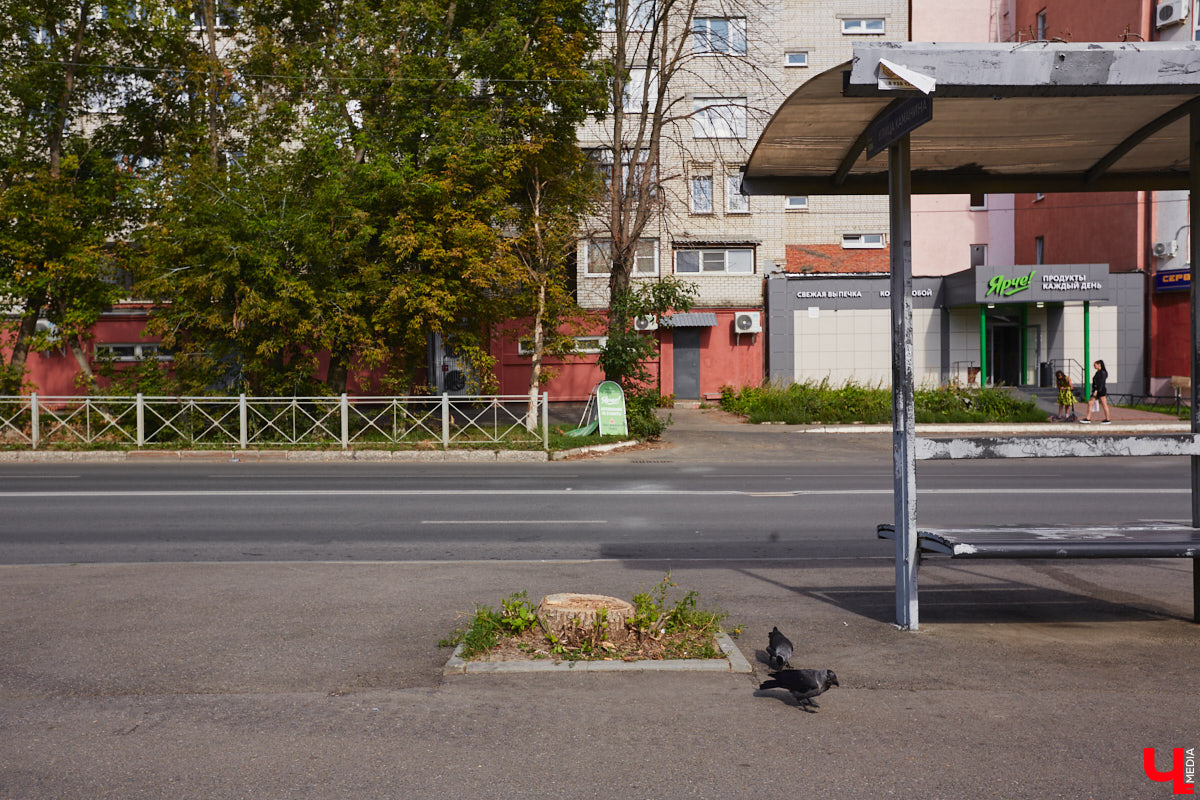
[[[654,588],[634,595],[635,613],[626,624],[626,636],[617,637],[619,642],[613,642],[604,619],[594,627],[550,633],[528,595],[520,591],[502,600],[498,609],[476,606],[468,624],[438,645],[462,644],[460,656],[467,661],[496,656],[556,661],[724,658],[714,639],[727,614],[701,608],[697,591],[673,591],[677,588],[668,572]]]

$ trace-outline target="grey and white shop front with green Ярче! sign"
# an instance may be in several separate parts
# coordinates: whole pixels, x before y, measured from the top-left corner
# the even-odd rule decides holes
[[[1056,369],[1076,385],[1103,359],[1110,391],[1141,392],[1144,276],[1106,264],[977,266],[914,277],[919,385],[1037,386]],[[767,288],[768,371],[788,383],[890,385],[887,275],[785,275]]]

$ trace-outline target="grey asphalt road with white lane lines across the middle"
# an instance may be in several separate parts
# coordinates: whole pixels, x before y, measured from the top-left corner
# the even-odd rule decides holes
[[[889,437],[761,461],[0,465],[0,564],[890,557]],[[1186,459],[929,462],[922,525],[1189,517]]]

